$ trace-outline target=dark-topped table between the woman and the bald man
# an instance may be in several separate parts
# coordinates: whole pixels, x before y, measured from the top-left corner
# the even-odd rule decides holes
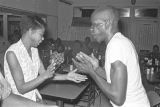
[[[50,81],[40,89],[40,93],[56,98],[56,104],[59,107],[64,107],[64,100],[77,99],[88,86],[88,82],[77,84],[71,81]]]

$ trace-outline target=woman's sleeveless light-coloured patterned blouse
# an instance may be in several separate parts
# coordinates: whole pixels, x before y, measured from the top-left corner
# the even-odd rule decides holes
[[[40,68],[40,59],[37,48],[31,48],[32,58],[29,56],[26,48],[24,47],[22,40],[20,39],[17,43],[11,45],[8,51],[13,51],[17,57],[17,60],[20,64],[24,75],[24,81],[29,82],[38,76],[38,70]],[[21,95],[33,101],[36,101],[36,94],[39,94],[37,89],[34,89],[28,93],[20,94],[17,90],[13,77],[11,75],[11,71],[9,69],[8,62],[6,60],[6,53],[4,57],[4,74],[6,80],[10,83],[12,92],[17,95]]]

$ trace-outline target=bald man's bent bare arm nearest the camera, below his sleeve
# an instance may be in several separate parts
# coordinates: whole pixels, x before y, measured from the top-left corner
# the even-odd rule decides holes
[[[96,72],[98,72],[97,69]],[[102,92],[116,105],[122,105],[126,99],[127,89],[127,68],[121,61],[115,61],[110,69],[111,83],[93,73],[92,78],[102,90]]]

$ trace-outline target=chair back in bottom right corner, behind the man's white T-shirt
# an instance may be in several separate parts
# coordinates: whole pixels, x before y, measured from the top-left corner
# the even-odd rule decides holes
[[[151,107],[160,107],[160,96],[155,91],[147,92]]]

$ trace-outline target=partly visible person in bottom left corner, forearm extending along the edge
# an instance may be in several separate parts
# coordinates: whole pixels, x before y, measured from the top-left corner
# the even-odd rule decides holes
[[[36,103],[30,99],[15,95],[11,92],[10,84],[1,74],[0,67],[0,107],[57,107],[55,105],[45,105]]]

